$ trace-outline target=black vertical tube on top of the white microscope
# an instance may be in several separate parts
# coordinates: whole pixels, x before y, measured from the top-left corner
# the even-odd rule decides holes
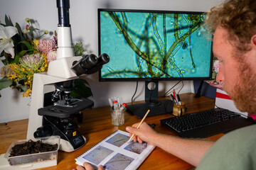
[[[57,0],[58,8],[58,27],[70,27],[69,0]]]

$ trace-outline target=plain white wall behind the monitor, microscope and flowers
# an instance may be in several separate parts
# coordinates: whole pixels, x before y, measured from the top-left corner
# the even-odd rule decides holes
[[[97,8],[131,8],[172,11],[208,11],[222,0],[70,0],[70,24],[73,40],[90,45],[97,54]],[[25,18],[36,20],[36,28],[41,30],[57,30],[58,13],[54,0],[0,0],[1,22],[4,16],[11,17],[13,23],[24,28]],[[2,67],[2,64],[0,64]],[[122,96],[125,102],[131,101],[136,82],[99,82],[98,75],[86,77],[94,95],[95,107],[107,106],[107,98]],[[174,86],[176,81],[161,81],[159,94]],[[191,81],[185,81],[181,93],[193,91]],[[181,84],[176,89],[179,90]],[[11,88],[0,91],[0,123],[28,118],[30,98],[22,98],[21,94]],[[139,82],[136,100],[144,99],[144,82]]]

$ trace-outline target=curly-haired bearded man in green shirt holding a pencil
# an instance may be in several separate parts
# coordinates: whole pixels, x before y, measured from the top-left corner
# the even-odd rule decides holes
[[[226,1],[222,7],[211,9],[206,23],[214,33],[213,55],[221,63],[217,81],[223,83],[240,111],[255,115],[256,1]],[[126,129],[134,134],[134,142],[161,147],[197,169],[256,169],[256,125],[234,130],[217,142],[163,135],[146,123],[139,129],[137,125]],[[85,166],[87,170],[92,168],[90,164]]]

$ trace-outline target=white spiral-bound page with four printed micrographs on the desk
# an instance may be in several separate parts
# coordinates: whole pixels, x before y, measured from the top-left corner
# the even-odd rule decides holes
[[[128,143],[128,140],[128,132],[117,130],[76,158],[76,164],[82,165],[83,162],[89,162],[95,168],[102,164],[105,169],[137,169],[155,147],[146,142]]]

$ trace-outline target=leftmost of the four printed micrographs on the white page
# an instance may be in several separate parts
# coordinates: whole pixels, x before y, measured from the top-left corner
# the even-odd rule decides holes
[[[88,161],[92,162],[93,164],[100,164],[107,156],[109,156],[112,152],[112,150],[107,149],[106,147],[96,147],[92,150],[92,152],[89,152],[88,154],[85,154],[83,157],[84,159],[87,159]]]

